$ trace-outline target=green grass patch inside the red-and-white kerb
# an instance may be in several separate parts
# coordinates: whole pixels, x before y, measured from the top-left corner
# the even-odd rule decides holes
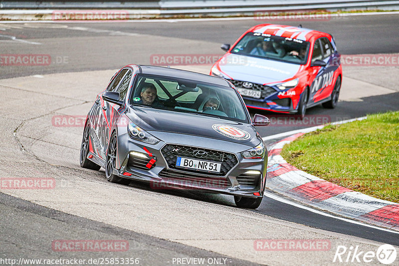
[[[399,112],[305,134],[281,155],[310,174],[399,203]]]

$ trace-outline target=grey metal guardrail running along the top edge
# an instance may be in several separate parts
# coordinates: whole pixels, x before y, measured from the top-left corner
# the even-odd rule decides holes
[[[36,15],[32,20],[48,17],[46,9],[121,9],[127,10],[129,18],[186,16],[254,15],[259,12],[284,10],[326,9],[383,9],[399,10],[399,0],[0,0],[0,19],[10,18],[24,9],[25,18]],[[8,12],[7,12],[8,10]],[[19,13],[20,15],[21,13]],[[47,14],[47,16],[46,16]],[[6,15],[6,16],[4,16]]]

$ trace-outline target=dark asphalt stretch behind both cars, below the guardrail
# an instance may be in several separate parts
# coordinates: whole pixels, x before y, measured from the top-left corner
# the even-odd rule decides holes
[[[233,43],[245,30],[270,20],[245,19],[188,22],[94,22],[1,24],[6,53],[41,53],[53,58],[50,66],[7,67],[0,78],[70,71],[119,69],[132,62],[149,64],[152,54],[220,54],[222,43]],[[302,24],[331,33],[342,54],[398,53],[399,16],[332,17],[329,21],[273,21]],[[11,28],[9,28],[11,27]],[[22,44],[9,37],[42,43]],[[67,57],[67,62],[56,61]]]

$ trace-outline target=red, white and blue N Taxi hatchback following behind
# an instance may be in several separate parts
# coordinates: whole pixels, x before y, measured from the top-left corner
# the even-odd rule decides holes
[[[248,29],[211,68],[230,81],[248,108],[298,114],[335,108],[342,81],[340,54],[328,33],[286,25]]]

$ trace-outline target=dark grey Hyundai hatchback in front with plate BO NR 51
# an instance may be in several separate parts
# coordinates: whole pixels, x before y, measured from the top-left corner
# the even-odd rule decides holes
[[[267,150],[234,86],[221,78],[128,65],[97,95],[83,132],[80,165],[105,169],[110,182],[194,189],[259,207]]]

